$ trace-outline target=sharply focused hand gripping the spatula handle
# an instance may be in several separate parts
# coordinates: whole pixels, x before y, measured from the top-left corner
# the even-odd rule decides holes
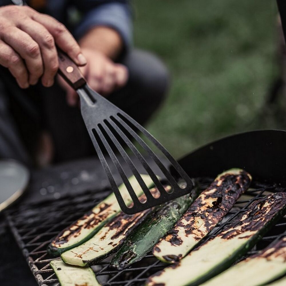
[[[86,64],[80,47],[65,26],[27,6],[0,7],[0,64],[21,88],[41,78],[52,86],[59,63],[55,44],[78,65]]]

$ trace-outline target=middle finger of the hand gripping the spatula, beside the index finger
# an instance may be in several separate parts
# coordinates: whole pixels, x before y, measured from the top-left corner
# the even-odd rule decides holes
[[[23,21],[18,27],[29,34],[39,45],[44,65],[42,83],[44,86],[52,86],[54,76],[59,67],[55,41],[49,31],[41,24],[31,19]]]

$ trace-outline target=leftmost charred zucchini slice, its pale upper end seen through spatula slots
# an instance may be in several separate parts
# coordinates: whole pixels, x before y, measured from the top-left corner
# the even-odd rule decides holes
[[[154,183],[148,175],[141,175],[145,184],[151,187]],[[143,194],[143,191],[134,176],[129,178],[130,184],[138,196]],[[122,197],[128,204],[131,198],[125,185],[119,186]],[[53,255],[59,255],[64,251],[72,249],[91,237],[93,237],[108,221],[115,217],[120,212],[119,204],[114,193],[110,194],[102,202],[96,205],[90,212],[78,219],[69,227],[53,239],[48,246],[48,252]]]

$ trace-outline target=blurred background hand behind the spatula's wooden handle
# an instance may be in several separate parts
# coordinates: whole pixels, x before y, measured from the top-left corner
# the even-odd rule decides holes
[[[88,63],[80,67],[80,70],[92,89],[103,96],[108,96],[126,84],[128,70],[124,65],[114,63],[106,55],[93,49],[83,48],[82,52]],[[60,76],[59,83],[66,90],[67,103],[75,106],[78,103],[76,92]]]

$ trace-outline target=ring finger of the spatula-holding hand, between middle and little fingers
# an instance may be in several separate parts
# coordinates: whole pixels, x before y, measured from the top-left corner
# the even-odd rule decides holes
[[[36,84],[43,74],[43,62],[39,45],[31,36],[17,27],[6,29],[1,38],[25,60],[29,70],[29,83]]]

